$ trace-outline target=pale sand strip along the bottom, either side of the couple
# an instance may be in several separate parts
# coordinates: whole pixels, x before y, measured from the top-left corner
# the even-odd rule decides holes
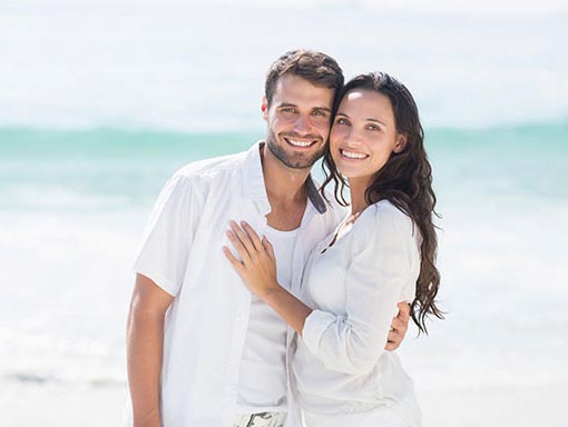
[[[567,384],[419,390],[423,426],[566,427]],[[119,426],[126,385],[10,384],[0,391],[2,427]]]

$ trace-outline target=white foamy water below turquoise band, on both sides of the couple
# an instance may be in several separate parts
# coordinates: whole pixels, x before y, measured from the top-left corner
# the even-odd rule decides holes
[[[469,202],[445,187],[438,193],[448,319],[432,322],[429,338],[408,339],[404,365],[427,389],[566,383],[568,205],[527,195],[497,205],[472,188]],[[50,196],[0,218],[0,377],[124,381],[128,266],[149,206],[109,209],[102,196],[71,193],[46,209]]]

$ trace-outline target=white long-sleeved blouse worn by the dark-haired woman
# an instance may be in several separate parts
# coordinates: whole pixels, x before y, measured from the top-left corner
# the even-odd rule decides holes
[[[414,299],[419,235],[405,214],[383,200],[333,246],[330,236],[315,247],[301,291],[314,310],[292,360],[304,416],[325,425],[325,416],[384,410],[420,424],[412,380],[396,354],[384,350],[396,302]]]

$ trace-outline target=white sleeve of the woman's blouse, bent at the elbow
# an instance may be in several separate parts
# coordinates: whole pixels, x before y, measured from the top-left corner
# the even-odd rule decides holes
[[[302,331],[327,369],[345,374],[365,374],[376,365],[396,304],[413,299],[419,272],[418,231],[410,218],[390,203],[370,209],[359,218],[351,254],[345,254],[352,257],[345,314],[313,310]]]

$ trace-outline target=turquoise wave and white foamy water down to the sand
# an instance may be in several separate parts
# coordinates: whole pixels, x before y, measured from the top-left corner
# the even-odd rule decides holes
[[[123,384],[130,265],[165,180],[262,133],[0,130],[0,381]],[[419,387],[568,384],[568,123],[427,129],[440,305]],[[441,358],[442,355],[442,358]]]

